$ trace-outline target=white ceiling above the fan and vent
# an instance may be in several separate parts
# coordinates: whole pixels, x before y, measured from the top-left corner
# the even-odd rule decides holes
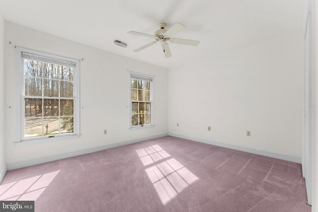
[[[305,0],[0,0],[0,11],[7,21],[169,69],[302,30]],[[169,43],[170,58],[159,44],[133,52],[153,39],[127,32],[153,34],[160,22],[185,25],[173,37],[199,46]]]

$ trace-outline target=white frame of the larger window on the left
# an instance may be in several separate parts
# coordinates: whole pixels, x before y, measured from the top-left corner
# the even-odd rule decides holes
[[[42,137],[31,137],[24,138],[24,96],[25,96],[25,86],[24,86],[24,67],[22,60],[22,52],[29,53],[33,55],[38,55],[43,58],[55,59],[57,61],[66,61],[75,64],[75,69],[73,73],[73,97],[74,97],[74,129],[73,133],[60,134],[54,136],[42,136]],[[21,47],[15,47],[15,67],[16,67],[16,84],[17,84],[17,133],[16,133],[16,144],[19,143],[39,143],[47,141],[61,141],[66,139],[75,139],[80,136],[80,120],[79,120],[79,60],[71,59],[67,57],[52,55],[49,53],[43,53],[35,50],[25,49]],[[43,84],[42,84],[43,85]]]

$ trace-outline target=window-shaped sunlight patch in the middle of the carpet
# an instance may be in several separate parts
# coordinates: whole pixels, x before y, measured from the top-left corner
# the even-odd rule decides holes
[[[159,161],[145,170],[163,205],[199,179],[158,144],[137,149],[136,152],[144,166]]]

